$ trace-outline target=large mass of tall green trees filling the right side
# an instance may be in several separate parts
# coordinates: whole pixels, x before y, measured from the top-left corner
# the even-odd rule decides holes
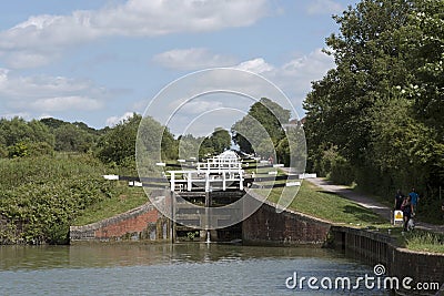
[[[392,196],[444,185],[444,2],[362,0],[326,38],[335,68],[304,101],[309,166]],[[426,202],[424,200],[424,202]]]

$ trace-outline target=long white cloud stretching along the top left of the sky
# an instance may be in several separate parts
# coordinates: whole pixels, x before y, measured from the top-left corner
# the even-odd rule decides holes
[[[41,14],[0,32],[0,55],[10,68],[48,63],[62,50],[101,37],[154,37],[251,25],[266,1],[129,0],[70,16]]]

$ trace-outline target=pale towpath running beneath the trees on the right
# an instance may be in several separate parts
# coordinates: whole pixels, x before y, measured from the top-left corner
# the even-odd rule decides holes
[[[341,195],[347,200],[357,203],[363,207],[372,210],[374,213],[379,214],[380,216],[382,216],[387,221],[392,220],[392,208],[374,201],[372,197],[367,195],[363,195],[362,193],[356,193],[347,188],[346,186],[332,184],[329,181],[325,181],[320,177],[306,178],[305,181],[321,187],[325,192]],[[434,225],[421,221],[415,221],[415,224],[416,228],[444,234],[444,225]]]

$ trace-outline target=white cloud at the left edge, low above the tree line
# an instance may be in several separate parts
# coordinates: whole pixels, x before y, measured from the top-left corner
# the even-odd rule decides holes
[[[0,108],[8,113],[29,111],[93,111],[102,108],[109,92],[88,80],[63,76],[16,76],[0,69]]]

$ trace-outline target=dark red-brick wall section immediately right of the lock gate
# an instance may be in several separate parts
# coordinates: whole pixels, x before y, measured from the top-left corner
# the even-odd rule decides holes
[[[323,245],[331,224],[302,213],[284,211],[266,202],[242,223],[242,241],[246,244]]]

